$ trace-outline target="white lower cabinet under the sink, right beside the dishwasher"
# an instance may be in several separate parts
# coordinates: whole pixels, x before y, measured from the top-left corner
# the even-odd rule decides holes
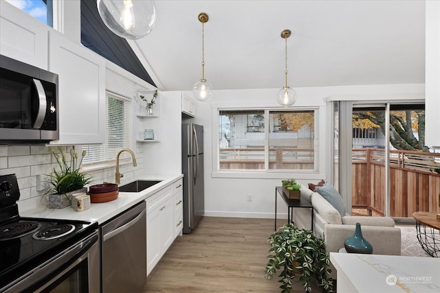
[[[174,240],[173,184],[146,199],[146,274],[156,266]]]

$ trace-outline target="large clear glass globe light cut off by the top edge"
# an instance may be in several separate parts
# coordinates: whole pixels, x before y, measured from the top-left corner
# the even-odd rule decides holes
[[[153,0],[97,0],[96,4],[104,24],[122,38],[142,38],[156,23]]]

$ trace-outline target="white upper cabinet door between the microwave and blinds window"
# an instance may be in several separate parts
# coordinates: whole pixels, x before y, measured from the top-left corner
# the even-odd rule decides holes
[[[58,73],[60,139],[54,144],[104,142],[105,60],[50,32],[49,70]]]

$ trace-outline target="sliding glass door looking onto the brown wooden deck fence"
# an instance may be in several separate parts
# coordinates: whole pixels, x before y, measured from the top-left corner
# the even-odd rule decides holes
[[[423,104],[333,102],[333,109],[333,181],[353,215],[439,212],[440,154],[425,146]]]

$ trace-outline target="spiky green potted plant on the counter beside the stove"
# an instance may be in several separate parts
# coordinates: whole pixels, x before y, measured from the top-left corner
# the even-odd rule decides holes
[[[54,172],[47,174],[47,183],[52,187],[46,192],[47,207],[51,209],[62,209],[71,203],[72,194],[78,192],[87,192],[85,185],[91,183],[91,175],[80,172],[80,166],[86,155],[84,150],[79,159],[78,153],[72,148],[70,158],[67,159],[65,149],[58,147],[59,153],[50,147],[50,153],[55,157],[59,170],[54,168]]]

